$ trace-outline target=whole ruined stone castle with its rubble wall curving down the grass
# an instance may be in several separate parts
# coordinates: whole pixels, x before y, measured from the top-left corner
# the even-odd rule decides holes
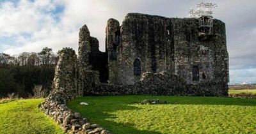
[[[106,52],[81,27],[78,57],[72,48],[60,50],[54,91],[39,107],[65,132],[109,134],[72,112],[67,101],[86,95],[227,96],[227,83],[223,22],[129,13],[121,26],[108,20]]]

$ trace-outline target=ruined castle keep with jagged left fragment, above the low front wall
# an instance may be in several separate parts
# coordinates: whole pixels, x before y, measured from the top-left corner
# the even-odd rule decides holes
[[[78,61],[80,70],[99,72],[102,83],[132,85],[143,73],[164,71],[186,84],[221,83],[215,89],[219,91],[228,83],[225,23],[207,16],[178,19],[128,13],[121,26],[108,20],[106,52],[99,51],[99,41],[83,26]]]

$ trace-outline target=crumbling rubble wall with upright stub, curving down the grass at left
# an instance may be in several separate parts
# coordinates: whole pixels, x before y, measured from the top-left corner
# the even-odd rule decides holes
[[[109,133],[97,124],[91,124],[81,114],[67,108],[67,102],[82,96],[81,93],[83,92],[79,91],[77,87],[76,53],[71,48],[63,48],[59,53],[59,61],[55,70],[54,90],[45,98],[44,102],[40,103],[39,107],[46,115],[50,115],[54,121],[60,124],[61,129],[67,133]]]

